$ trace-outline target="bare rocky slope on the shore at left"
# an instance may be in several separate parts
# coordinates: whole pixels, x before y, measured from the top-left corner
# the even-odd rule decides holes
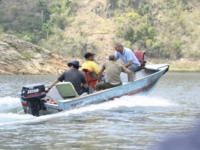
[[[60,74],[64,59],[12,35],[0,37],[0,74]]]

